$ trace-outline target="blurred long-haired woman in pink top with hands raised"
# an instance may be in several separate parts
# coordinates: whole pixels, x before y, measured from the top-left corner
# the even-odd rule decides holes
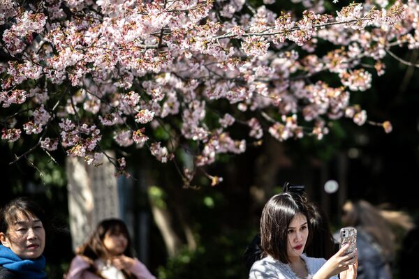
[[[133,257],[122,220],[105,219],[71,261],[66,279],[156,279]]]

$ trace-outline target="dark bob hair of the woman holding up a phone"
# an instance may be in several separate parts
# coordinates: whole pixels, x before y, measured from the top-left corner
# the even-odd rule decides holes
[[[298,213],[307,218],[309,236],[307,244],[311,241],[311,224],[309,209],[306,200],[295,193],[281,193],[274,195],[265,204],[260,218],[260,246],[263,256],[270,255],[274,259],[287,264],[288,225]]]

